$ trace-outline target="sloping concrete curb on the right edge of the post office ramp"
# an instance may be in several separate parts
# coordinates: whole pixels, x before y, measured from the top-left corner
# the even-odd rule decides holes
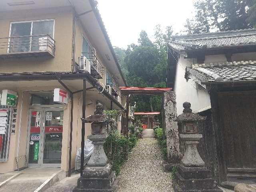
[[[34,192],[42,192],[48,187],[52,186],[54,183],[64,179],[66,177],[66,172],[64,170],[59,170],[58,172],[52,174],[45,182],[43,182]]]

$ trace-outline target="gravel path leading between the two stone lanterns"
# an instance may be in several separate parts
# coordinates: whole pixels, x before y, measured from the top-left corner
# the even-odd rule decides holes
[[[162,161],[154,138],[139,139],[118,176],[118,192],[173,192],[170,173],[163,172]]]

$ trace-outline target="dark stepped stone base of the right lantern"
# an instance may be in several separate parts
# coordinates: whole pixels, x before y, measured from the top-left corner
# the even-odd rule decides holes
[[[178,166],[173,180],[175,192],[222,192],[206,167]]]

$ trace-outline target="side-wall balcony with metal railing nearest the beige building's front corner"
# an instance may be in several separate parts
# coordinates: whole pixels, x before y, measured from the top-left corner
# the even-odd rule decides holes
[[[91,65],[91,75],[96,79],[102,79],[104,74],[104,67],[102,66],[100,60],[93,53],[82,53],[90,61]]]

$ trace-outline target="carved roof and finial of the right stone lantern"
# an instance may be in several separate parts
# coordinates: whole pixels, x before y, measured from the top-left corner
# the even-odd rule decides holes
[[[190,122],[196,122],[196,121],[201,121],[205,120],[205,117],[202,117],[196,113],[192,113],[192,109],[190,102],[184,102],[183,103],[183,113],[180,114],[175,121],[177,122],[185,122],[185,121],[190,121]]]

